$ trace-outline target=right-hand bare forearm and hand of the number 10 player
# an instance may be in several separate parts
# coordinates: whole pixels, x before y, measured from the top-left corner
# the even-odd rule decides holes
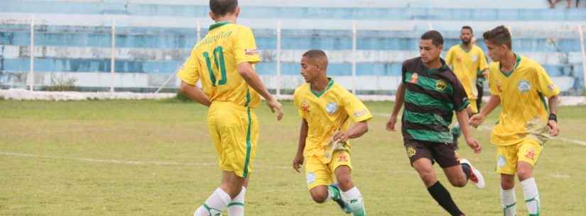
[[[250,64],[250,62],[242,62],[238,64],[238,73],[244,78],[244,81],[252,87],[252,89],[260,93],[261,96],[266,99],[268,108],[271,108],[273,113],[277,113],[277,120],[281,120],[281,118],[283,118],[283,105],[278,103],[271,93],[266,90],[259,75],[254,71],[252,64]]]

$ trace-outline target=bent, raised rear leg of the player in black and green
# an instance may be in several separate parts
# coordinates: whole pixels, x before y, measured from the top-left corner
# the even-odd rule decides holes
[[[433,145],[433,156],[442,167],[452,186],[464,187],[468,179],[477,188],[484,188],[484,177],[467,159],[457,159],[455,144]]]

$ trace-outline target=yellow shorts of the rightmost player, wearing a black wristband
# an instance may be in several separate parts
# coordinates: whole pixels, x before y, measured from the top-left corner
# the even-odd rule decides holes
[[[543,146],[534,140],[525,140],[519,144],[497,146],[497,173],[514,175],[519,161],[531,166],[537,164]]]

